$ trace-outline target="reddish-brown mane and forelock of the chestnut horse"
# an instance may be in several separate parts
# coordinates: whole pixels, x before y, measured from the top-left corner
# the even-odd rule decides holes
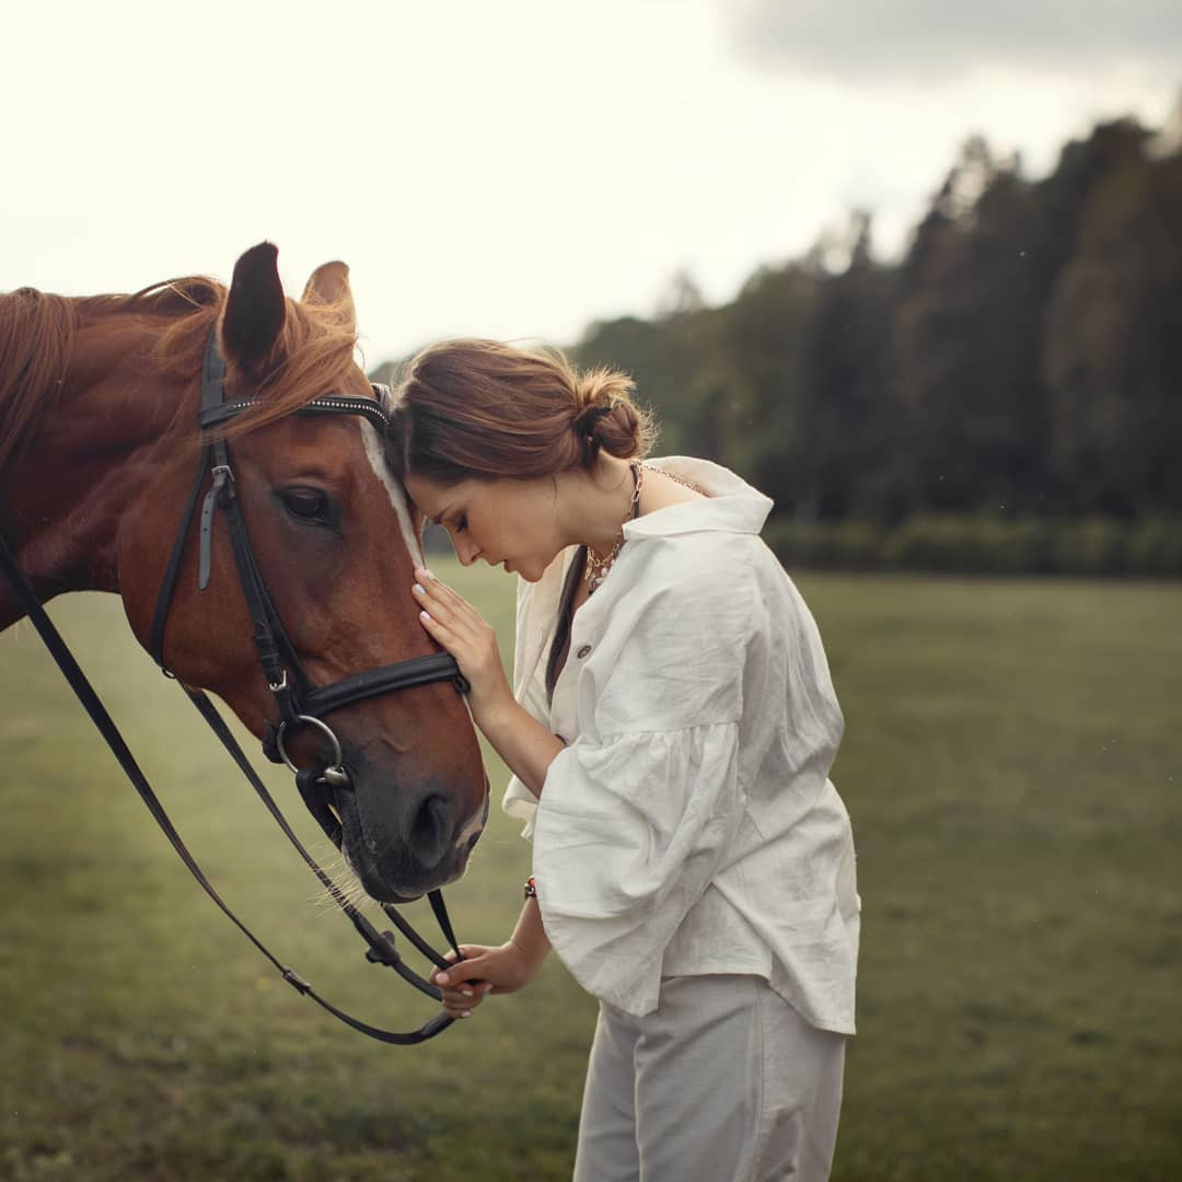
[[[227,288],[204,275],[152,284],[130,296],[65,297],[21,287],[0,294],[0,472],[30,437],[32,422],[52,410],[65,385],[83,324],[109,316],[162,320],[147,369],[196,389],[209,333]],[[282,418],[323,394],[339,391],[352,370],[357,335],[351,307],[287,300],[275,364],[258,387],[258,403],[222,428],[227,439]],[[182,407],[177,407],[177,411]]]

